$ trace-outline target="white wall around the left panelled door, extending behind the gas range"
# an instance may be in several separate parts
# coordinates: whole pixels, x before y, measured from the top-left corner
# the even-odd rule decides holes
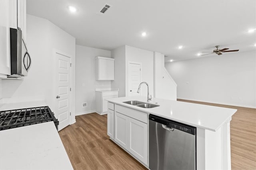
[[[24,80],[2,80],[0,99],[6,98],[5,101],[8,102],[45,100],[54,111],[53,51],[62,51],[71,57],[72,88],[75,90],[75,38],[50,21],[27,14],[26,41],[32,59],[28,76]],[[73,95],[73,103],[74,100]],[[71,105],[71,110],[75,113],[74,104]],[[74,115],[72,114],[72,122],[75,121]]]

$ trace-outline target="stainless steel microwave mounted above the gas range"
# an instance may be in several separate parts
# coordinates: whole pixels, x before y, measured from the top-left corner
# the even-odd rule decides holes
[[[10,65],[11,75],[8,77],[22,77],[28,75],[31,58],[26,43],[22,39],[20,29],[10,28]]]

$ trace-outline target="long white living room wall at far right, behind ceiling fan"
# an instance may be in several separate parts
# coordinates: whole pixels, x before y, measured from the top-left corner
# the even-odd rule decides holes
[[[256,51],[165,63],[177,98],[256,107]]]

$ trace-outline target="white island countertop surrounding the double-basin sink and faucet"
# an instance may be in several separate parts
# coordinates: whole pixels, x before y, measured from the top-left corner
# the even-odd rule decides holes
[[[210,131],[216,131],[226,121],[230,121],[232,115],[237,111],[236,109],[230,109],[225,107],[193,104],[188,102],[179,102],[158,98],[152,98],[152,101],[149,102],[151,104],[157,103],[158,105],[160,105],[154,108],[142,108],[123,103],[130,100],[146,102],[147,97],[144,96],[109,98],[106,100],[121,106],[130,107],[138,111],[157,115],[194,127],[201,127]]]

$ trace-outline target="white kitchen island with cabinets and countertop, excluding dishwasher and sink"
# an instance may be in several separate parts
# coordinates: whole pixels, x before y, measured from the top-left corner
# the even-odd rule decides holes
[[[231,169],[230,121],[236,109],[158,98],[146,102],[147,98],[142,96],[106,100],[108,100],[110,139],[147,168],[149,164],[148,115],[152,114],[196,127],[196,168],[198,170]],[[131,100],[159,106],[142,108],[123,103]]]

